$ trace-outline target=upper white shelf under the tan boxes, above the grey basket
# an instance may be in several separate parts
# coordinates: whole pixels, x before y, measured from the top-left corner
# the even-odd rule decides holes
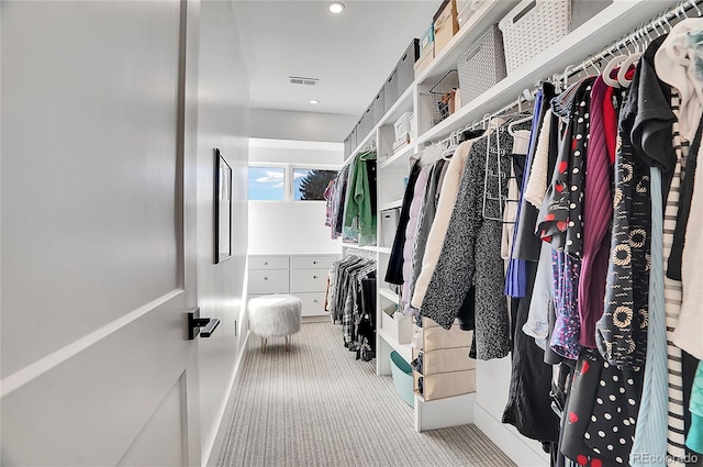
[[[520,1],[486,1],[469,18],[459,32],[444,46],[432,64],[416,77],[415,82],[434,86],[450,69],[457,68],[457,60],[493,24],[505,16]],[[517,94],[515,94],[517,97]]]

